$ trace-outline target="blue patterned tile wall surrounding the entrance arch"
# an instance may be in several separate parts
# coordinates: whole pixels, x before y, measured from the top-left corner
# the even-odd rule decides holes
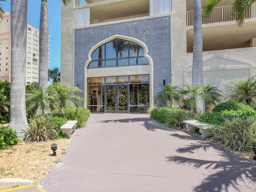
[[[163,80],[171,82],[170,16],[164,16],[74,30],[75,85],[84,88],[84,64],[92,47],[116,34],[136,38],[148,47],[154,65],[154,93],[161,90],[157,84],[162,85]]]

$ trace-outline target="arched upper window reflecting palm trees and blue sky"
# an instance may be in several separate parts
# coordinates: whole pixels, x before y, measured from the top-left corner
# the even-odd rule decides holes
[[[92,53],[91,68],[148,65],[144,49],[135,42],[114,39]]]

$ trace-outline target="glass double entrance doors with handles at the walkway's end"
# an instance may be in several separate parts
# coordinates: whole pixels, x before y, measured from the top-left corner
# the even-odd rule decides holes
[[[106,86],[106,112],[128,113],[128,86]]]

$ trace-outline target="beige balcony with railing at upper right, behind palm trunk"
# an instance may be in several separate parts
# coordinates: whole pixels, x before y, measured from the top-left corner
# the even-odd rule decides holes
[[[186,12],[187,52],[193,52],[193,8],[192,3],[187,2],[191,4]],[[222,5],[214,8],[210,18],[202,22],[203,51],[251,47],[251,42],[256,40],[256,3],[246,11],[242,27],[235,23],[236,15],[232,13],[231,3]]]

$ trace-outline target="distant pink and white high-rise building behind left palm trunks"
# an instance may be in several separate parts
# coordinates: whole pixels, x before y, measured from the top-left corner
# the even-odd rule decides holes
[[[0,76],[2,81],[10,82],[11,73],[11,14],[0,20]],[[50,44],[49,44],[50,46]],[[39,70],[39,29],[27,24],[26,85],[38,82]]]

